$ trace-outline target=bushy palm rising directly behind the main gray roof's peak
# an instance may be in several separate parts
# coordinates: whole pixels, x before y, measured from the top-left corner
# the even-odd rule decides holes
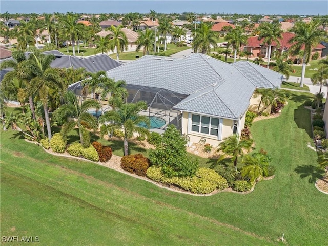
[[[211,23],[202,23],[196,30],[196,36],[193,41],[194,52],[209,54],[211,47],[217,48],[218,35],[211,30]]]

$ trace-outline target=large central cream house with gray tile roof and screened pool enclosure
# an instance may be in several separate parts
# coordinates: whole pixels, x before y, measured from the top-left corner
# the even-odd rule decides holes
[[[256,88],[280,88],[283,75],[247,61],[228,64],[195,53],[187,58],[143,56],[107,72],[125,80],[128,102],[146,101],[144,112],[165,119],[156,131],[175,124],[189,144],[205,140],[217,146],[232,135],[240,136],[245,113],[254,107]],[[70,86],[80,89],[79,82]]]

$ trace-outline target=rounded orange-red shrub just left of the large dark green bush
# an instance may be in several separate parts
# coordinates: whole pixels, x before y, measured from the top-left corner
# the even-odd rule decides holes
[[[121,159],[121,167],[129,173],[135,173],[138,176],[146,176],[149,167],[149,159],[141,154],[124,156]]]

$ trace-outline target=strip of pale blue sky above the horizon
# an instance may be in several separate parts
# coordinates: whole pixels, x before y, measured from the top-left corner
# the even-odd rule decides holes
[[[327,0],[120,0],[120,1],[84,1],[84,0],[40,0],[19,1],[0,0],[0,12],[4,13],[148,13],[149,10],[160,13],[240,13],[240,14],[298,14],[327,15]]]

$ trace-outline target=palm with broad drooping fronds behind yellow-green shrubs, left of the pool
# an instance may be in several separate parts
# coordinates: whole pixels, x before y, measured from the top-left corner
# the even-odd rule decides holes
[[[66,120],[67,117],[74,117],[77,120],[66,122],[61,128],[61,135],[64,138],[74,129],[78,127],[78,135],[80,143],[83,147],[90,146],[90,133],[88,129],[96,129],[98,127],[97,119],[88,113],[88,110],[95,108],[100,109],[100,104],[95,100],[86,100],[79,105],[79,102],[73,91],[67,91],[65,94],[66,103],[61,105],[53,112],[54,119],[57,121]]]

